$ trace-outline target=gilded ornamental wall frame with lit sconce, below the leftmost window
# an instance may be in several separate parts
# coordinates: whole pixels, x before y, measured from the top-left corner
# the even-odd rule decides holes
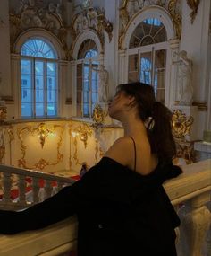
[[[26,161],[26,153],[27,153],[27,146],[25,146],[24,144],[24,133],[27,134],[28,136],[32,136],[32,137],[37,137],[38,138],[38,142],[40,143],[40,145],[44,146],[45,142],[40,139],[40,134],[42,134],[45,131],[45,136],[46,136],[46,131],[47,131],[47,135],[49,134],[56,134],[56,137],[58,137],[58,141],[57,141],[57,146],[56,146],[56,159],[54,162],[50,162],[47,161],[44,158],[40,158],[38,160],[38,163],[34,163],[33,165],[29,165]],[[18,166],[19,167],[23,167],[26,169],[32,169],[32,170],[43,170],[47,165],[56,165],[60,162],[63,161],[63,154],[60,153],[60,148],[62,146],[63,143],[63,131],[64,131],[64,127],[61,125],[52,125],[51,127],[46,127],[45,123],[40,123],[36,128],[33,126],[26,126],[23,128],[17,128],[17,135],[18,138],[21,142],[21,159],[18,159]],[[45,137],[46,140],[46,137]],[[43,148],[42,146],[42,148]]]

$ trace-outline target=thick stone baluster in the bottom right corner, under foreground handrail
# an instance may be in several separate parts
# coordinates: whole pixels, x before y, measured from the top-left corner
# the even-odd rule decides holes
[[[202,256],[206,235],[211,224],[211,213],[206,203],[210,199],[210,191],[190,199],[188,202],[190,211],[184,216],[183,225],[186,236],[188,254],[190,256]]]

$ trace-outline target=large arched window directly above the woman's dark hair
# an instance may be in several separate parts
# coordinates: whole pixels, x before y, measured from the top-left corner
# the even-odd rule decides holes
[[[155,88],[156,100],[165,102],[167,34],[156,18],[140,22],[133,31],[129,47],[128,80],[141,81]]]

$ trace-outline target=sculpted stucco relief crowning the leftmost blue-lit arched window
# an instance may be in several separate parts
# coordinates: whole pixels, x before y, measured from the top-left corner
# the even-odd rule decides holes
[[[21,32],[29,29],[50,31],[60,40],[68,54],[66,36],[67,29],[62,18],[61,4],[45,3],[44,1],[21,0],[17,10],[10,13],[10,31],[12,51],[14,43]]]

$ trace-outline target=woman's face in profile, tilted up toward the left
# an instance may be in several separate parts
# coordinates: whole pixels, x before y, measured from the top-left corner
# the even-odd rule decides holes
[[[123,91],[115,93],[114,99],[109,102],[108,113],[113,119],[120,120],[122,113],[125,110],[125,105],[127,104],[129,96]]]

